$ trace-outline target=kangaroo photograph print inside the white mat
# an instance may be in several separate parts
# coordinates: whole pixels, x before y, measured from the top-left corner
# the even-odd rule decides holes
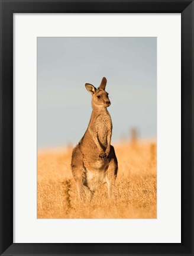
[[[157,37],[37,37],[37,218],[157,218]]]

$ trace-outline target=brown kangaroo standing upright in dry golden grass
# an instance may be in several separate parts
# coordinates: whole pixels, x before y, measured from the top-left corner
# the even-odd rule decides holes
[[[114,197],[118,162],[114,147],[111,146],[112,121],[106,109],[111,102],[105,91],[106,82],[106,78],[102,78],[98,89],[92,84],[85,84],[92,95],[93,111],[85,135],[73,149],[71,164],[80,199],[82,185],[88,187],[93,195],[96,188],[104,183],[108,187],[108,196]]]

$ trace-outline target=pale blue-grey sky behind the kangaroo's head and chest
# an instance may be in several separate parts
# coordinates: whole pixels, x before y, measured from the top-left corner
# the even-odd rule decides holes
[[[112,140],[157,133],[156,37],[38,37],[38,148],[78,143],[92,113],[85,84],[107,79]]]

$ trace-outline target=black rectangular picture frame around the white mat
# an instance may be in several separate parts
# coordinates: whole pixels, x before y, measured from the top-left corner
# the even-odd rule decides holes
[[[1,2],[1,255],[194,255],[193,247],[193,0],[0,0]],[[181,13],[182,242],[180,244],[13,243],[13,14]],[[174,97],[176,94],[174,93]],[[173,189],[173,186],[172,186]],[[130,231],[129,231],[130,232]],[[166,231],[168,232],[168,231]],[[117,231],[115,231],[115,235]],[[106,241],[105,241],[106,242]]]

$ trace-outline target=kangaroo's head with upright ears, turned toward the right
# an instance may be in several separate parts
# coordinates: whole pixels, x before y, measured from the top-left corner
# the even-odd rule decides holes
[[[101,85],[96,89],[92,84],[86,84],[86,89],[92,94],[92,107],[109,107],[111,101],[108,98],[108,92],[105,91],[106,78],[102,78]]]

